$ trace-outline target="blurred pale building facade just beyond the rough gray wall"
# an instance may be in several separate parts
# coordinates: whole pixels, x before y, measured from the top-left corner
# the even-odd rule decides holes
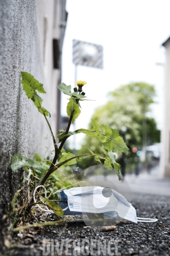
[[[61,129],[61,92],[57,90],[57,85],[61,82],[62,44],[68,15],[65,3],[66,0],[36,0],[40,54],[54,133]]]

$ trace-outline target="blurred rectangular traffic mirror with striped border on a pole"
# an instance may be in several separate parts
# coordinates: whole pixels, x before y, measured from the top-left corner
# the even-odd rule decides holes
[[[103,47],[73,40],[73,63],[88,67],[103,68]]]

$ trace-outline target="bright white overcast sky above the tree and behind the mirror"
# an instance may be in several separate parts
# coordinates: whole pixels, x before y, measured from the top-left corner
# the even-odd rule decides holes
[[[122,84],[144,81],[156,88],[157,105],[152,116],[161,129],[163,120],[164,47],[170,35],[170,0],[67,0],[68,22],[65,31],[62,82],[74,84],[72,40],[101,44],[104,68],[78,66],[77,79],[87,81],[88,99],[76,129],[88,128],[94,109],[107,102],[107,94]],[[62,115],[66,115],[67,96],[62,95]],[[73,130],[74,128],[72,128]],[[78,135],[78,141],[82,138]]]

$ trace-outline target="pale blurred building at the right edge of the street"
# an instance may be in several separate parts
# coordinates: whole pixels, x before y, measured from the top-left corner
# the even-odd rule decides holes
[[[170,37],[162,44],[166,49],[164,84],[164,124],[161,136],[161,172],[170,177]]]

